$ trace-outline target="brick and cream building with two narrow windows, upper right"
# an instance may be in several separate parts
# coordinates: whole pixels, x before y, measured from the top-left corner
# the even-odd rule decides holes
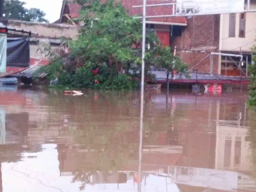
[[[252,0],[250,10],[245,1],[243,13],[188,17],[188,26],[183,29],[181,36],[173,39],[171,45],[179,48],[177,55],[190,68],[206,73],[211,70],[209,53],[236,55],[213,55],[212,72],[228,76],[248,76],[246,63],[252,63],[251,47],[256,43],[255,9],[256,1]]]

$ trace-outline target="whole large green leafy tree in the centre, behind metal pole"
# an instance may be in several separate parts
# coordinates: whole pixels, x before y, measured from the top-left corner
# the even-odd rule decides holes
[[[76,40],[67,42],[70,52],[55,60],[55,67],[46,68],[49,77],[58,78],[58,84],[65,86],[121,90],[137,87],[136,80],[141,76],[141,20],[132,18],[124,6],[114,0],[77,2],[82,8],[76,21],[83,22],[84,26]],[[151,67],[183,72],[187,66],[172,55],[170,47],[161,46],[154,30],[147,30],[147,79],[153,78]]]

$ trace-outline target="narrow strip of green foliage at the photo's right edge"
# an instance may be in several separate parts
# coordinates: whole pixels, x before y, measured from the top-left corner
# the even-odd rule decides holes
[[[256,46],[253,46],[252,53],[256,54]],[[254,63],[256,63],[256,56],[252,57]],[[249,98],[248,104],[249,105],[256,105],[256,64],[252,64],[249,67],[249,72],[251,74],[250,83],[249,83]]]

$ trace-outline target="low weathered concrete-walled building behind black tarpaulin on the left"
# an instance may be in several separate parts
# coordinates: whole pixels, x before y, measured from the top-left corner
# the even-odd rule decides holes
[[[14,61],[14,63],[9,63],[7,60],[6,73],[1,73],[0,76],[9,76],[14,73],[18,73],[35,64],[49,64],[50,50],[54,52],[60,47],[61,38],[75,39],[78,35],[78,30],[80,29],[80,26],[56,23],[39,23],[21,20],[7,20],[6,25],[12,30],[18,30],[18,32],[26,34],[10,34],[11,30],[9,29],[7,35],[7,42],[8,37],[13,36],[24,37],[24,41],[29,40],[27,41],[29,46],[29,56],[27,62],[28,66],[18,65],[17,63],[15,63],[17,61]]]

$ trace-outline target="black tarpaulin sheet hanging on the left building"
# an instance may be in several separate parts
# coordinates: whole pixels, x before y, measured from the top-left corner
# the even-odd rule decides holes
[[[6,66],[29,67],[29,38],[7,37]]]

